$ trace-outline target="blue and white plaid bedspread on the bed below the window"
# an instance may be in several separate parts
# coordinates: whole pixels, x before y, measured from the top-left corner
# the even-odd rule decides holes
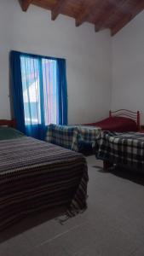
[[[81,125],[49,125],[46,141],[64,148],[78,151],[83,143],[91,143],[94,148],[101,128]]]

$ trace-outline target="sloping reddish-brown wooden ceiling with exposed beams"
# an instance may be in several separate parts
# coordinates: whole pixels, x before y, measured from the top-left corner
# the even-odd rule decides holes
[[[67,15],[75,19],[76,26],[89,22],[95,25],[95,32],[109,28],[112,36],[144,9],[144,0],[20,0],[20,3],[23,11],[34,4],[50,10],[51,20],[60,14]]]

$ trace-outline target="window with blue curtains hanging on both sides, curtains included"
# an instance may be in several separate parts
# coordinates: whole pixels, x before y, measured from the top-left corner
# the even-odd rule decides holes
[[[27,136],[44,140],[47,125],[67,124],[66,61],[10,53],[14,116]]]

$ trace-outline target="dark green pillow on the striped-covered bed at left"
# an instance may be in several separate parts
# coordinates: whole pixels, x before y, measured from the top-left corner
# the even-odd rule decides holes
[[[23,137],[24,134],[14,128],[0,126],[0,140],[9,140],[13,138]]]

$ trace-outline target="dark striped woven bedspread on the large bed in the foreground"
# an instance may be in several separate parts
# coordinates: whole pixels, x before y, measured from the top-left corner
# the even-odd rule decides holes
[[[84,156],[32,137],[0,142],[0,230],[30,212],[86,207]]]

